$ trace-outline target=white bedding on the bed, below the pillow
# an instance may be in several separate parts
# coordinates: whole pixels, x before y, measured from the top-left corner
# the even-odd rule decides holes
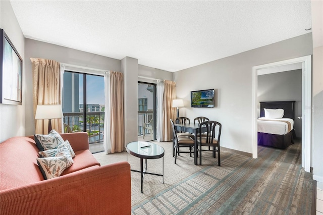
[[[263,119],[263,120],[261,120]],[[265,120],[265,121],[264,121]],[[271,118],[258,118],[258,132],[268,134],[284,135],[288,133],[288,124],[277,120],[284,120],[291,123],[291,130],[294,128],[294,120],[289,118],[271,119]]]

